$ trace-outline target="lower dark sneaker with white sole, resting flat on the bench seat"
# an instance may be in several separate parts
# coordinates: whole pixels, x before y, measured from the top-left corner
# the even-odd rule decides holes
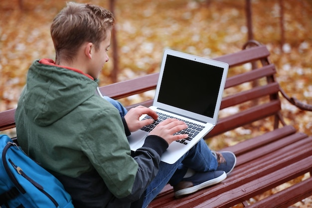
[[[189,178],[182,179],[177,185],[173,186],[175,198],[197,192],[203,188],[215,185],[226,179],[224,171],[196,172]]]

